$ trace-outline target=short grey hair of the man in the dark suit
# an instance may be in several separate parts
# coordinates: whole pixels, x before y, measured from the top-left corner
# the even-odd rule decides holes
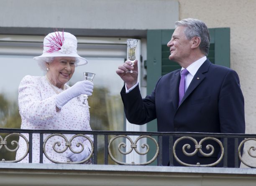
[[[200,37],[201,43],[199,48],[204,55],[208,55],[210,46],[210,34],[207,26],[204,22],[197,19],[187,18],[181,21],[175,22],[175,27],[184,26],[184,34],[188,40],[193,37]]]

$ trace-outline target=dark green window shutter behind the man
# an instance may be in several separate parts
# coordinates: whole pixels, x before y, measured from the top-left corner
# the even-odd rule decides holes
[[[147,94],[154,90],[159,77],[181,68],[176,62],[169,60],[167,43],[173,32],[174,30],[147,31]],[[209,32],[211,41],[207,58],[214,64],[230,67],[230,28],[210,28]],[[156,119],[147,124],[147,131],[157,131]],[[148,141],[148,144],[154,146],[153,142]],[[148,155],[152,154],[149,152]]]

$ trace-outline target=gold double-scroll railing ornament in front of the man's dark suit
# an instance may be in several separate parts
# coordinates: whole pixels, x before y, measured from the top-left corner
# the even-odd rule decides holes
[[[179,143],[179,141],[182,141],[184,139],[190,139],[191,141],[193,141],[195,143],[195,151],[193,151],[192,153],[188,153],[186,151],[186,149],[190,149],[191,146],[189,144],[184,144],[182,146],[182,152],[186,155],[186,156],[194,156],[198,151],[200,152],[200,154],[202,154],[203,156],[212,156],[212,154],[214,153],[214,147],[210,144],[206,145],[206,149],[207,150],[210,150],[210,153],[205,153],[202,151],[202,143],[206,140],[214,140],[216,141],[219,145],[220,145],[220,150],[221,150],[221,155],[219,157],[219,159],[217,161],[215,161],[214,163],[212,164],[204,164],[204,165],[201,165],[199,162],[197,162],[197,164],[187,164],[187,163],[184,163],[183,161],[181,161],[177,154],[176,154],[176,146],[177,144]],[[192,137],[189,137],[189,136],[183,136],[183,137],[180,137],[179,139],[177,139],[175,142],[174,142],[174,145],[173,145],[173,154],[174,154],[174,158],[179,162],[179,164],[181,165],[184,165],[184,166],[215,166],[217,165],[218,163],[220,163],[220,161],[223,159],[223,155],[224,155],[224,147],[223,147],[223,144],[221,143],[221,141],[219,139],[216,139],[216,138],[213,138],[213,137],[205,137],[203,139],[201,139],[199,141],[199,143],[197,143],[197,140],[192,138]]]

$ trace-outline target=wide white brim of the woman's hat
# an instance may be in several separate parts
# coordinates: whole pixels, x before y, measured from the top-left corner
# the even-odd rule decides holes
[[[77,58],[77,66],[81,66],[88,63],[88,61],[85,58],[77,55],[76,53],[69,53],[69,54],[58,53],[58,52],[43,53],[42,55],[34,57],[33,59],[37,61],[45,61],[46,57],[75,57]]]

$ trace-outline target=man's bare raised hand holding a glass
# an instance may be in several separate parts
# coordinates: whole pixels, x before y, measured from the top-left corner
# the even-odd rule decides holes
[[[127,89],[130,89],[138,82],[138,60],[134,61],[134,65],[131,66],[131,61],[125,61],[125,63],[118,67],[115,71],[126,83]],[[129,72],[133,70],[133,73]]]

